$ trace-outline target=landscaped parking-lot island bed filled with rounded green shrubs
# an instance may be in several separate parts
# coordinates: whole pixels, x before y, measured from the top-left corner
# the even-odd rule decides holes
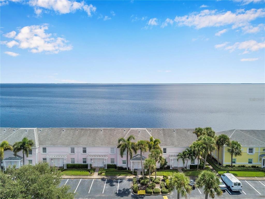
[[[136,180],[136,177],[133,178],[133,193],[138,194],[139,190],[144,190],[145,195],[167,195],[170,193],[169,190],[169,179],[168,175],[164,175],[163,179],[157,177],[156,179],[152,176],[150,177],[151,183],[149,184],[149,178],[144,176]]]

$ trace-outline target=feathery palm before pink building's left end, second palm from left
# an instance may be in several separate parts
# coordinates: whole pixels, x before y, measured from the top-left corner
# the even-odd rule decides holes
[[[13,145],[13,152],[16,155],[19,151],[22,150],[23,153],[23,165],[25,164],[25,158],[24,158],[24,154],[26,154],[26,156],[29,156],[29,150],[31,150],[31,147],[34,145],[34,141],[32,139],[28,139],[27,137],[24,137],[22,139],[22,141],[20,142],[16,142]]]

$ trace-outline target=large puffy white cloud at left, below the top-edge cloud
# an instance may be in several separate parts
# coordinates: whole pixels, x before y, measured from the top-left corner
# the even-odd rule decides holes
[[[60,51],[72,50],[72,45],[62,37],[52,37],[51,33],[46,33],[48,25],[25,26],[19,30],[19,33],[12,41],[3,41],[9,48],[17,45],[22,49],[29,49],[32,53],[59,53]]]

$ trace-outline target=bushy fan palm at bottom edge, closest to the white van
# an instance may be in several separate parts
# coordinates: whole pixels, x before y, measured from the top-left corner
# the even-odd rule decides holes
[[[199,174],[195,186],[197,188],[203,188],[205,199],[207,199],[208,195],[210,195],[211,198],[214,198],[215,194],[217,196],[221,196],[223,194],[219,184],[219,178],[215,175],[215,173],[204,170]]]

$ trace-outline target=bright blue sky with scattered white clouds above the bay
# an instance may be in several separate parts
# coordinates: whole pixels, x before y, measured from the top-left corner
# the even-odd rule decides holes
[[[264,1],[0,2],[1,83],[265,83]]]

